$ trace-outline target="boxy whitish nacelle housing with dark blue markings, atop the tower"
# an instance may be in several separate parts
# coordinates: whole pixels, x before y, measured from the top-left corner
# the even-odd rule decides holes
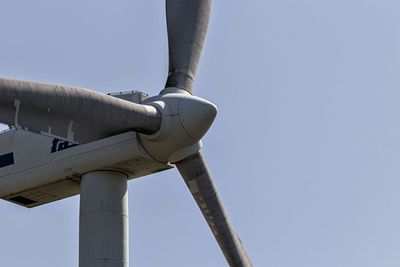
[[[90,171],[134,179],[172,167],[153,160],[136,132],[81,145],[23,129],[0,134],[0,198],[28,208],[79,194],[80,177]]]

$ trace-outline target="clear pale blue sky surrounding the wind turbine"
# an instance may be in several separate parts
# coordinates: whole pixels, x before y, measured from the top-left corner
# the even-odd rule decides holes
[[[0,76],[162,89],[163,0],[2,0]],[[400,2],[214,1],[203,154],[257,267],[400,266]],[[0,144],[1,145],[1,144]],[[131,266],[226,266],[178,172],[129,183]],[[78,265],[79,197],[0,201],[0,266]]]

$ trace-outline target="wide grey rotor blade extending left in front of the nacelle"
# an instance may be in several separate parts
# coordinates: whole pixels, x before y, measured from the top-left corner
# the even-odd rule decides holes
[[[0,79],[0,122],[86,143],[128,130],[154,133],[161,115],[87,89]]]

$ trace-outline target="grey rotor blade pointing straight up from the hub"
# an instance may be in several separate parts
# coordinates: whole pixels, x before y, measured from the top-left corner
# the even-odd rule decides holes
[[[165,87],[192,93],[210,17],[211,0],[166,0],[169,74]]]

